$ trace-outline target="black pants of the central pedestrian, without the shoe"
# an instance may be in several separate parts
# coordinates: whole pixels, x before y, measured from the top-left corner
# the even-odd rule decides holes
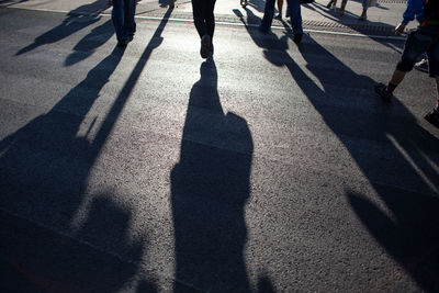
[[[195,23],[196,31],[200,37],[210,35],[213,38],[215,31],[215,16],[213,10],[215,9],[216,0],[192,0],[193,22]]]

